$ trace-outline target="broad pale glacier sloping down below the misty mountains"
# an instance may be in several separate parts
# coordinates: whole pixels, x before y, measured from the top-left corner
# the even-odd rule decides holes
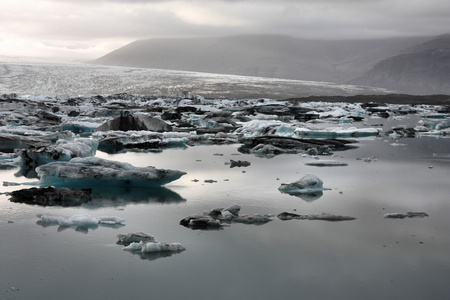
[[[19,95],[178,96],[188,91],[204,97],[272,98],[383,94],[382,88],[330,82],[273,79],[198,72],[99,66],[0,62],[0,93]]]

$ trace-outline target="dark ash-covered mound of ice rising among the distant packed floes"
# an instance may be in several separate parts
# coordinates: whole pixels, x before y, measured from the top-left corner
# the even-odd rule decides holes
[[[108,121],[95,129],[94,131],[108,131],[108,130],[145,130],[155,132],[172,131],[172,126],[166,122],[152,118],[147,115],[134,114],[128,116],[120,116],[111,121]]]

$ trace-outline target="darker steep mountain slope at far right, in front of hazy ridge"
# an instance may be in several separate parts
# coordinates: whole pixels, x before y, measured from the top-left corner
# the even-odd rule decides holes
[[[383,59],[350,82],[409,94],[450,94],[450,34]]]

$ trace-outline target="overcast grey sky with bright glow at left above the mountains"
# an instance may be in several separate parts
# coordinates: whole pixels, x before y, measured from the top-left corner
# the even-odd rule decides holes
[[[94,59],[137,39],[450,32],[450,0],[0,0],[0,55]]]

